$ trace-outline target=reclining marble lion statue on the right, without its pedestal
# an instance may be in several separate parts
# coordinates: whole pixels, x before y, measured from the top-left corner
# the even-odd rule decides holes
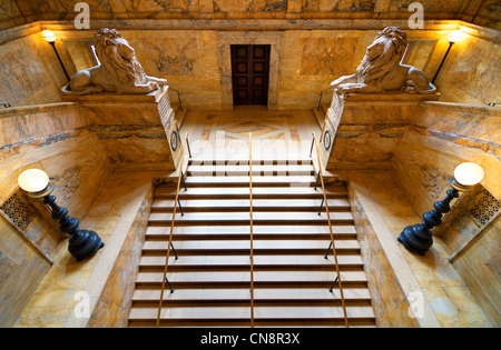
[[[406,47],[407,36],[402,29],[385,28],[367,48],[356,72],[334,80],[331,87],[343,94],[394,90],[404,93],[435,93],[436,88],[421,70],[401,64]]]

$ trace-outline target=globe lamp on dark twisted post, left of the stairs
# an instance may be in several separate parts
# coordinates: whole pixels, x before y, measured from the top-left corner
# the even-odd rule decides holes
[[[99,236],[94,231],[80,230],[78,219],[68,217],[68,209],[56,204],[56,197],[50,196],[56,186],[49,180],[49,176],[40,169],[23,171],[18,178],[19,187],[28,193],[31,199],[41,199],[52,211],[52,219],[59,222],[59,229],[70,234],[68,240],[69,252],[80,261],[94,256],[105,247]]]

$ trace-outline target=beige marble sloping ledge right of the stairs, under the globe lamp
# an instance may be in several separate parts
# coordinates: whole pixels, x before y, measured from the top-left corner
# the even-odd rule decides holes
[[[369,220],[395,272],[400,287],[412,303],[422,296],[423,313],[416,317],[420,327],[470,328],[493,327],[472,292],[448,261],[446,244],[434,238],[424,257],[413,254],[396,238],[409,224],[419,223],[420,216],[405,198],[389,171],[340,172],[350,179]],[[384,186],[381,186],[384,183]]]

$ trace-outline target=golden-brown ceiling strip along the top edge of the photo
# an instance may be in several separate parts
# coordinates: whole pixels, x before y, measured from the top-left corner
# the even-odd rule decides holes
[[[131,19],[407,19],[414,0],[86,0],[91,20]],[[2,28],[72,20],[77,1],[3,0]],[[499,0],[421,0],[425,20],[455,19],[500,28]]]

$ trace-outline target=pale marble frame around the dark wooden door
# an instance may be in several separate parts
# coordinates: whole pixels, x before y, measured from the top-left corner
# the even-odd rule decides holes
[[[223,110],[233,110],[232,44],[269,44],[268,110],[278,110],[283,52],[283,32],[224,31],[218,32],[220,93]]]

